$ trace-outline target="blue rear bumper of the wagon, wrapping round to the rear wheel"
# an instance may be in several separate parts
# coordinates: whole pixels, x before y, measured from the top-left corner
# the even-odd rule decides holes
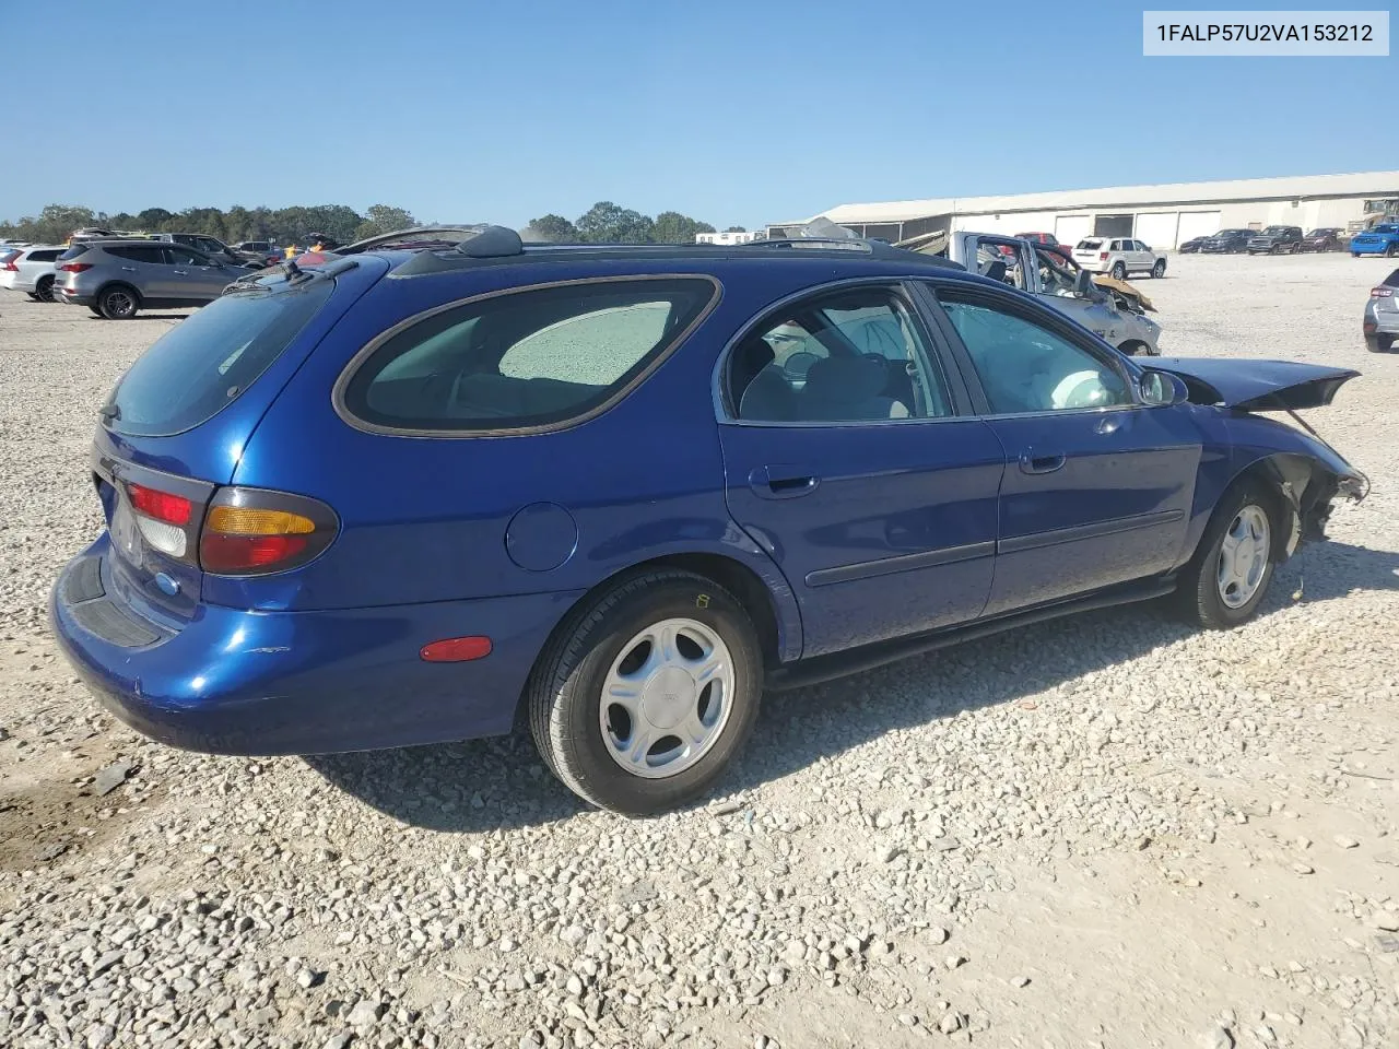
[[[316,613],[201,604],[171,631],[120,599],[108,551],[104,533],[55,583],[59,645],[116,718],[208,754],[325,754],[508,733],[536,655],[581,596]],[[418,657],[431,641],[474,634],[492,641],[484,659]]]

